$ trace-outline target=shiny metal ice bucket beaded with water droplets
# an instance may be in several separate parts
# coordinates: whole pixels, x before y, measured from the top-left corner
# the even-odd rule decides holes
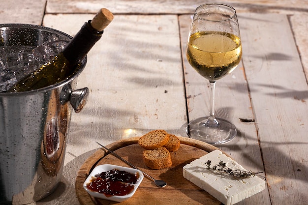
[[[0,24],[0,49],[59,39],[68,42],[71,36],[41,26]],[[56,85],[0,92],[0,204],[29,204],[57,187],[71,112],[79,112],[87,101],[88,88],[74,90],[85,65],[86,58],[73,76]]]

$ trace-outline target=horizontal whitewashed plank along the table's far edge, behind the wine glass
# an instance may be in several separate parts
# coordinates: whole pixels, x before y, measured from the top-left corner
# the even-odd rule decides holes
[[[188,14],[206,2],[221,2],[219,0],[48,0],[47,13],[95,13],[100,7],[106,7],[118,14]],[[228,0],[238,11],[249,12],[307,12],[307,0]]]

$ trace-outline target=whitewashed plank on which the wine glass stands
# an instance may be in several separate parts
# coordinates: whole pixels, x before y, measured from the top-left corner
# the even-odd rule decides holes
[[[194,118],[209,115],[210,88],[208,80],[193,70],[185,57],[190,23],[190,15],[180,17],[188,116],[189,120],[193,120]],[[239,134],[235,139],[218,147],[230,154],[246,169],[263,172],[255,124],[239,120],[239,118],[254,119],[242,63],[231,74],[216,82],[215,107],[217,117],[230,120],[239,130]],[[270,205],[267,188],[260,194],[238,203],[238,205],[252,204]]]

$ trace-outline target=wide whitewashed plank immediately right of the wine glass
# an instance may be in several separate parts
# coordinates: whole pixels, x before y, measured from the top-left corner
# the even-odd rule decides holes
[[[243,60],[272,205],[305,204],[308,87],[288,19],[241,17]]]

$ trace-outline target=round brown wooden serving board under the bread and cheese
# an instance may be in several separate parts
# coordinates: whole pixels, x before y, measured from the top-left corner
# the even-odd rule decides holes
[[[172,167],[163,170],[150,170],[142,160],[143,148],[138,145],[139,137],[129,138],[110,144],[107,148],[138,167],[155,179],[162,179],[168,183],[164,188],[158,188],[146,176],[132,198],[117,203],[108,200],[96,199],[90,196],[83,188],[83,183],[92,169],[101,164],[114,164],[129,167],[123,161],[107,152],[105,149],[97,150],[81,166],[75,183],[76,195],[81,205],[220,205],[214,197],[203,191],[183,177],[182,168],[191,161],[218,149],[215,146],[190,138],[179,137],[180,149],[171,153]]]

